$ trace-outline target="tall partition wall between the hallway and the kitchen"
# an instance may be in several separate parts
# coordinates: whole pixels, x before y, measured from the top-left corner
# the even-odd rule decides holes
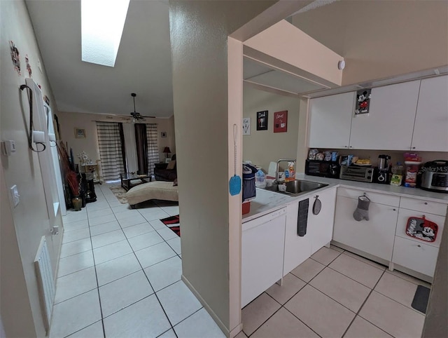
[[[236,224],[229,224],[228,34],[271,4],[169,3],[183,279],[226,334],[240,324],[230,321],[230,297],[239,295],[229,286],[229,231]]]

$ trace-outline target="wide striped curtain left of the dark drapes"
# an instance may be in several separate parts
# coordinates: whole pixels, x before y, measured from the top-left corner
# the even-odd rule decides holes
[[[97,121],[99,157],[104,180],[118,180],[120,173],[125,171],[125,154],[123,154],[124,140],[123,126],[117,122]],[[120,132],[121,130],[121,132]]]

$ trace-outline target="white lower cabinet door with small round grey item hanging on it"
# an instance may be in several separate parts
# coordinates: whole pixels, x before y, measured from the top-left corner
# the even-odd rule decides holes
[[[321,201],[321,211],[318,215],[313,213],[316,198]],[[333,236],[333,223],[335,220],[336,188],[316,193],[309,198],[307,233],[311,239],[311,255],[324,245],[330,243]]]

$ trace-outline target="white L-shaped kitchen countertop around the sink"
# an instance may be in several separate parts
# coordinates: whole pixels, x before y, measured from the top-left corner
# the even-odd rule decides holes
[[[365,183],[348,180],[338,180],[335,178],[325,178],[318,176],[305,175],[303,173],[295,175],[297,180],[307,180],[311,182],[325,183],[327,187],[309,191],[300,196],[291,197],[284,194],[279,194],[273,191],[267,191],[265,189],[257,189],[257,196],[251,201],[251,211],[243,215],[242,222],[248,222],[251,219],[261,217],[269,212],[279,210],[286,207],[286,205],[293,203],[297,199],[307,198],[316,194],[318,191],[324,191],[325,189],[335,187],[346,187],[351,189],[362,189],[364,191],[372,191],[380,194],[418,198],[425,201],[433,201],[438,203],[448,204],[448,194],[437,193],[433,191],[426,191],[418,188],[407,187],[393,187],[389,184],[377,184],[377,183]]]

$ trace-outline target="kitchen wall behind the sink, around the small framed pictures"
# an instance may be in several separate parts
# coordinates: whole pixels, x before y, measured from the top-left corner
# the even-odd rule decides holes
[[[299,133],[298,97],[267,93],[244,84],[243,116],[251,118],[251,135],[243,136],[243,159],[260,165],[267,173],[269,162],[279,158],[296,158]],[[268,111],[267,130],[257,130],[257,111]],[[288,111],[286,133],[274,133],[274,112]],[[305,111],[306,113],[306,111]],[[287,165],[287,163],[280,163]]]

